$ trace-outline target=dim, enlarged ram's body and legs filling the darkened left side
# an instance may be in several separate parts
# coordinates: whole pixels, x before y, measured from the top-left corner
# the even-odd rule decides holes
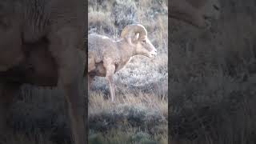
[[[85,0],[0,0],[0,134],[22,84],[60,86],[72,140],[86,143],[85,7]]]

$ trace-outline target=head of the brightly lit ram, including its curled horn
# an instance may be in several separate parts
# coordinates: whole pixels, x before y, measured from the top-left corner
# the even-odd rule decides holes
[[[147,38],[147,31],[144,26],[133,24],[126,26],[121,33],[121,37],[125,38],[130,46],[135,47],[136,54],[142,54],[149,58],[154,58],[157,50]]]

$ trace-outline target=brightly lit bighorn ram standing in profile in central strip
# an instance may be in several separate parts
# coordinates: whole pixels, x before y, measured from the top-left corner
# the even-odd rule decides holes
[[[134,55],[142,54],[153,58],[157,54],[157,50],[147,38],[145,27],[139,24],[126,26],[118,41],[103,35],[90,34],[88,46],[88,85],[95,76],[106,77],[112,102],[115,97],[114,73],[121,70]]]

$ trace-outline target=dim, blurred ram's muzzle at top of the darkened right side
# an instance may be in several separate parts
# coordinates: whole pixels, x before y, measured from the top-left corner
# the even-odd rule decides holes
[[[218,19],[220,4],[218,0],[172,0],[170,18],[176,18],[199,28],[209,26],[210,19]]]

